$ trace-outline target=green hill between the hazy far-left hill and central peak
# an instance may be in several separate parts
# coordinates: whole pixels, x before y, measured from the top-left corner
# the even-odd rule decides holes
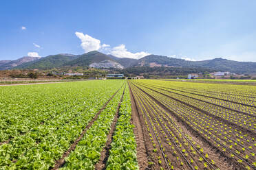
[[[40,60],[26,62],[19,66],[15,66],[13,69],[53,69],[58,66],[63,66],[66,62],[70,62],[76,58],[77,56],[70,56],[70,54],[51,55],[41,58]]]

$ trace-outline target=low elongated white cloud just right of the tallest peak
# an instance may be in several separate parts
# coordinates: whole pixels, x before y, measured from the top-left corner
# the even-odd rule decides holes
[[[148,56],[150,54],[144,51],[131,53],[130,51],[127,51],[127,49],[125,48],[125,45],[119,45],[117,47],[114,47],[113,49],[111,49],[109,53],[118,58],[135,58],[135,59],[139,59],[139,58]]]

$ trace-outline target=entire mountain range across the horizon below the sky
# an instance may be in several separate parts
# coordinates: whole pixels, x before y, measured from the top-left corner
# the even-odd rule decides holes
[[[111,67],[114,69],[123,69],[138,66],[164,66],[173,68],[206,68],[215,71],[230,71],[233,73],[256,73],[256,62],[237,62],[223,58],[188,61],[158,55],[149,55],[137,60],[132,58],[118,58],[98,51],[90,51],[82,55],[61,53],[43,58],[23,57],[18,60],[0,61],[0,70],[53,69],[63,66],[92,66],[100,69],[109,69]]]

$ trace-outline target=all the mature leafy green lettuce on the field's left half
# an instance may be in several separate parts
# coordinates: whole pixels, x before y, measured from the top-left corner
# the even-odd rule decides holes
[[[1,87],[0,169],[54,167],[56,160],[74,143],[124,81]],[[125,86],[118,90],[76,149],[65,159],[63,169],[94,169],[124,89],[107,169],[118,166],[138,169],[133,126],[129,122],[129,90]]]

